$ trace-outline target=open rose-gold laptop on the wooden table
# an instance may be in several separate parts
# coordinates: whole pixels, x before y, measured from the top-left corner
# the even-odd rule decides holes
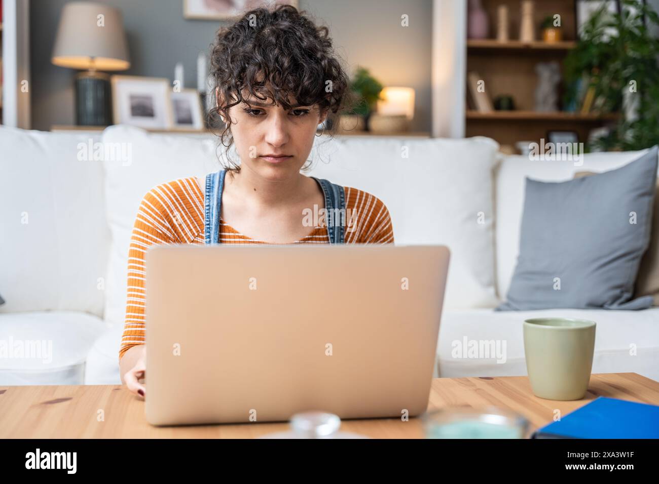
[[[147,421],[422,414],[448,263],[444,246],[152,246]]]

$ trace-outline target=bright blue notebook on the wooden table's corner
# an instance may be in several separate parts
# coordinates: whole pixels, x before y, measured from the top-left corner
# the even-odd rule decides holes
[[[659,439],[659,406],[600,396],[532,439]]]

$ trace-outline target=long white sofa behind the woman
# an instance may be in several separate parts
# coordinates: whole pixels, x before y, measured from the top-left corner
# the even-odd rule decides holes
[[[98,159],[101,151],[106,159]],[[119,383],[128,241],[138,204],[156,184],[219,169],[218,153],[217,140],[203,134],[0,127],[0,295],[6,301],[0,344],[15,349],[43,342],[39,358],[17,351],[0,358],[0,385]],[[565,315],[598,323],[594,373],[634,371],[659,380],[659,308],[492,310],[515,266],[525,176],[567,180],[638,155],[592,154],[577,167],[500,157],[487,138],[323,137],[314,145],[310,174],[383,200],[396,244],[451,249],[438,375],[525,375],[522,321]],[[505,358],[462,358],[454,348],[465,340],[505,344]]]

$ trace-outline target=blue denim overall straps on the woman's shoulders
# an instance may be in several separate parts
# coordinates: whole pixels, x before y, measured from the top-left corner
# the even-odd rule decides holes
[[[222,204],[225,170],[206,175],[204,196],[204,242],[219,244],[219,214]],[[312,176],[325,195],[326,225],[330,244],[345,243],[345,192],[343,187]],[[337,215],[339,214],[339,215]]]

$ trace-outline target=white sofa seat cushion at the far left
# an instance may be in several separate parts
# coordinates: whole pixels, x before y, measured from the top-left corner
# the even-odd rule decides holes
[[[77,311],[0,314],[0,385],[82,385],[87,354],[105,328]]]

